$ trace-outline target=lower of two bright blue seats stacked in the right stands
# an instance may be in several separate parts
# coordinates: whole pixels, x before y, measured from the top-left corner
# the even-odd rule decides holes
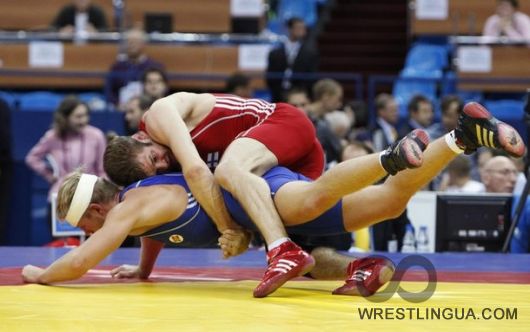
[[[436,80],[399,78],[394,82],[392,94],[399,105],[399,116],[401,118],[406,118],[408,116],[408,103],[415,95],[421,94],[429,98],[433,103],[435,102],[437,99]]]

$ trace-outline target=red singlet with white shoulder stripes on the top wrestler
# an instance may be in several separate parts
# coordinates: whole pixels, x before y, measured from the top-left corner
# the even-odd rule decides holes
[[[311,179],[322,174],[324,152],[313,124],[301,110],[261,99],[214,96],[211,112],[190,132],[197,151],[209,166],[212,157],[219,160],[234,139],[248,137],[263,143],[278,158],[279,165]],[[139,128],[146,131],[143,120]]]

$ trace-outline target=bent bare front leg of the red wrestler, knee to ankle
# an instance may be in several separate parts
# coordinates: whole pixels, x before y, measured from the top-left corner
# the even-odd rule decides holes
[[[267,244],[287,237],[283,223],[260,176],[278,165],[265,145],[251,138],[238,138],[225,151],[215,170],[219,185],[241,203]]]

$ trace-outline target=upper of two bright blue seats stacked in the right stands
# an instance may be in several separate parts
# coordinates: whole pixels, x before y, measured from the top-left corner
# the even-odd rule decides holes
[[[409,50],[400,76],[441,79],[447,58],[447,46],[416,44]]]

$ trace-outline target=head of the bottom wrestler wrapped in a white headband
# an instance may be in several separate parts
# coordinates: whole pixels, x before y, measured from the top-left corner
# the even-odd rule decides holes
[[[76,170],[61,184],[57,217],[92,234],[103,226],[107,213],[118,203],[119,191],[106,179]]]

